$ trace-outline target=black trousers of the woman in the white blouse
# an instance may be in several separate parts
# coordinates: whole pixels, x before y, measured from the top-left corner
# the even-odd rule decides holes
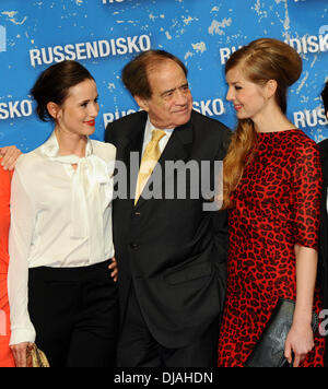
[[[28,313],[51,367],[116,365],[118,296],[109,263],[30,269]]]

